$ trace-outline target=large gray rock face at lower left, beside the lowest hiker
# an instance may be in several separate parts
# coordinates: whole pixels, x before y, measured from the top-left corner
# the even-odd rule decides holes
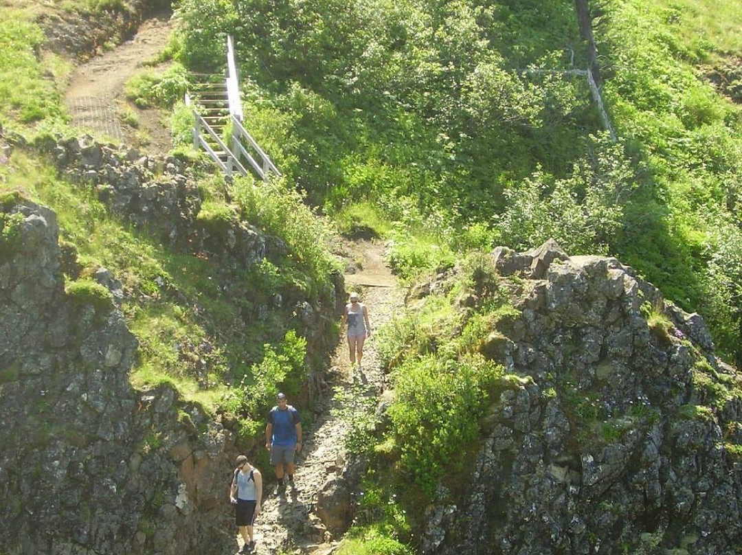
[[[229,551],[233,434],[170,387],[135,392],[122,313],[65,295],[53,212],[7,209],[22,221],[0,257],[0,552]]]

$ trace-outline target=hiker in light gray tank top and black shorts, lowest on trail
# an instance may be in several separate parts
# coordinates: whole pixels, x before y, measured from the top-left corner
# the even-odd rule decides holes
[[[255,549],[255,540],[252,539],[253,522],[260,513],[260,500],[263,497],[263,476],[247,457],[237,457],[237,468],[232,475],[232,485],[229,486],[229,501],[234,505],[234,519],[237,529],[245,542],[240,553],[250,553]]]

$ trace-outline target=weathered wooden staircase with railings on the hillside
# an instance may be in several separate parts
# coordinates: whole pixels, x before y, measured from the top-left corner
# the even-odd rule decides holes
[[[227,175],[247,175],[252,168],[262,180],[280,171],[243,125],[242,102],[232,37],[227,37],[226,77],[194,74],[197,83],[185,93],[194,114],[193,143]]]

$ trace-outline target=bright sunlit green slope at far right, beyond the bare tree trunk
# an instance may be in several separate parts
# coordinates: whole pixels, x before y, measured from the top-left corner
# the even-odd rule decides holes
[[[733,245],[741,238],[742,111],[704,73],[742,55],[732,32],[741,24],[740,1],[634,0],[613,4],[598,27],[611,115],[646,168],[619,254],[673,301],[702,312],[730,358],[740,309]]]

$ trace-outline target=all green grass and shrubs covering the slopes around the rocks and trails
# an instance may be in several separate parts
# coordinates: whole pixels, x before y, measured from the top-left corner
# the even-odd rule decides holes
[[[59,9],[102,18],[128,6],[70,0]],[[444,476],[467,472],[492,401],[533,382],[482,352],[485,344],[498,348],[497,326],[519,314],[483,255],[494,246],[522,251],[553,238],[573,256],[617,257],[668,300],[700,312],[723,358],[740,362],[742,0],[593,7],[617,139],[580,73],[586,45],[571,0],[173,7],[177,33],[165,55],[175,65],[133,83],[132,94],[174,115],[174,155],[197,185],[199,229],[220,237],[249,224],[275,249],[244,268],[163,245],[154,231],[111,214],[85,183],[56,174],[39,151],[80,130],[59,102],[69,62],[44,50],[33,3],[0,4],[0,121],[16,146],[0,165],[0,190],[22,191],[59,213],[77,264],[67,276],[70,295],[94,297],[88,278],[100,266],[122,280],[122,309],[141,342],[134,384],[177,384],[211,413],[237,417],[246,445],[276,388],[298,394],[336,335],[329,326],[325,350],[308,353],[296,310],[303,301],[332,304],[335,233],[389,240],[404,283],[447,276],[422,312],[379,334],[395,386],[391,431],[379,433],[361,407],[351,416],[349,447],[378,462],[384,476],[367,474],[341,553],[419,547],[421,508],[441,496]],[[188,147],[180,93],[192,73],[223,64],[227,34],[236,40],[247,126],[283,172],[266,185],[225,183]],[[13,220],[0,220],[0,231],[7,243],[0,247],[12,246]],[[445,272],[454,267],[451,278]],[[502,287],[527,289],[517,277]],[[642,313],[653,333],[659,329],[653,341],[668,350],[687,340],[669,336],[680,328],[658,298]],[[694,378],[713,395],[673,410],[708,423],[727,401],[738,402],[738,384],[683,345],[700,368]],[[570,394],[574,383],[565,379],[546,376],[543,404]],[[627,413],[624,428],[608,420],[598,393],[588,393],[571,398],[568,416],[582,430],[575,441],[617,441],[654,425],[654,408],[642,406]],[[732,424],[725,441],[737,449]]]

